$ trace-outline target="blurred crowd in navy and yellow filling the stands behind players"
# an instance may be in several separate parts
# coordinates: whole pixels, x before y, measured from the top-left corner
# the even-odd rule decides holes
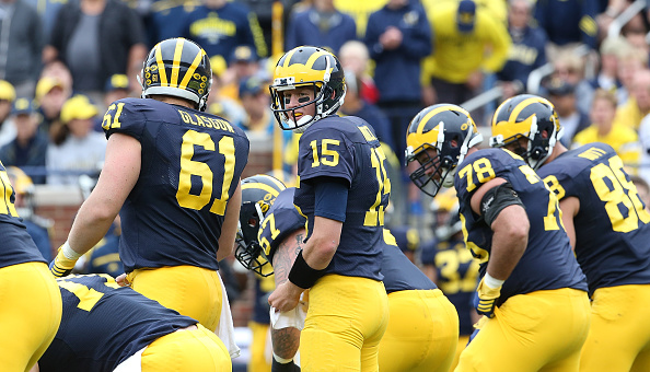
[[[649,31],[645,0],[1,0],[0,161],[33,184],[77,187],[80,175],[96,176],[104,112],[140,96],[147,50],[182,36],[210,57],[207,111],[270,143],[272,168],[290,184],[298,135],[278,128],[270,77],[285,50],[325,47],[346,72],[341,115],[372,125],[391,160],[387,223],[434,279],[436,259],[419,254],[413,229],[436,237],[430,224],[453,228],[443,229],[449,239],[457,221],[446,217],[451,206],[425,199],[408,179],[411,118],[436,103],[467,104],[488,129],[500,102],[539,94],[555,105],[567,148],[608,143],[642,185],[650,182]],[[42,230],[51,224],[33,209],[21,216]]]

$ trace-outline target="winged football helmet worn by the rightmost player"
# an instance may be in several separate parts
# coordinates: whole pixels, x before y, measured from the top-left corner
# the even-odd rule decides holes
[[[543,97],[520,94],[503,102],[492,118],[490,147],[506,148],[538,170],[562,137],[553,104]]]

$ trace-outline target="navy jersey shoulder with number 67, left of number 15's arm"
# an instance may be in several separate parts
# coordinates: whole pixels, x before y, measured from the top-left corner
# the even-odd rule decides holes
[[[306,219],[293,206],[294,195],[295,187],[280,191],[260,223],[257,240],[271,264],[280,243],[298,229],[304,229]]]

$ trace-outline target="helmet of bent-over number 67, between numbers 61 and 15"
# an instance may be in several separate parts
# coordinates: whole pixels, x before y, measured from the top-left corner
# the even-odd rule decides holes
[[[266,174],[242,181],[242,207],[234,256],[242,266],[262,277],[268,277],[274,271],[269,270],[270,260],[258,242],[260,223],[285,188],[282,182]]]

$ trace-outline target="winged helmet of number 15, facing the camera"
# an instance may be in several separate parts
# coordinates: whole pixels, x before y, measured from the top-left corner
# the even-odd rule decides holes
[[[287,107],[286,92],[311,88],[313,98],[295,107]],[[271,109],[280,128],[303,132],[314,121],[335,114],[346,95],[345,74],[338,59],[329,51],[301,46],[289,50],[278,61],[274,83],[269,86]],[[314,105],[314,115],[302,115],[295,120],[297,109]]]

